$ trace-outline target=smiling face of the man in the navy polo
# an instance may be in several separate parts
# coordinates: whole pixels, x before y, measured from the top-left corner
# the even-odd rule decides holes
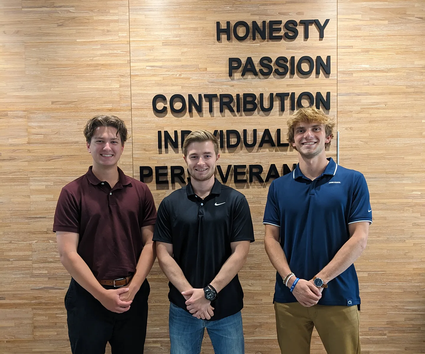
[[[312,159],[324,153],[325,144],[330,141],[331,136],[326,136],[325,125],[319,122],[300,122],[294,127],[292,147],[304,159]]]

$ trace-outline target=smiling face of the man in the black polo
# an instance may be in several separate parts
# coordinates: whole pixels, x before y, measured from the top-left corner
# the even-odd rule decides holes
[[[196,181],[207,181],[214,176],[215,164],[220,154],[215,155],[211,141],[193,142],[187,147],[184,161],[187,163],[190,177]]]

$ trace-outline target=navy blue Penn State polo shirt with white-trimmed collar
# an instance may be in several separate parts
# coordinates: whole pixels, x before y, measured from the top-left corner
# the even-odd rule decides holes
[[[310,280],[334,258],[350,237],[348,224],[372,223],[369,191],[360,172],[338,166],[332,158],[323,173],[310,180],[299,165],[269,187],[263,224],[280,227],[280,245],[289,268]],[[296,302],[277,272],[274,301]],[[354,264],[323,289],[319,305],[360,304]]]

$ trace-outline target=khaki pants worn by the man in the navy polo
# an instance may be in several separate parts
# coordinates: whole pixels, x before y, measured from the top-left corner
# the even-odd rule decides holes
[[[282,354],[309,354],[313,327],[328,354],[360,354],[357,306],[304,307],[276,303],[276,330]]]

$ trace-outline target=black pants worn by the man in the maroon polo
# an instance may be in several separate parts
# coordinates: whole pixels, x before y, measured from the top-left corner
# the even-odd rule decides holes
[[[105,286],[106,289],[113,289]],[[147,280],[136,293],[130,309],[118,314],[107,310],[87,290],[71,279],[65,295],[68,335],[73,354],[104,354],[106,343],[112,354],[142,354],[146,337]]]

